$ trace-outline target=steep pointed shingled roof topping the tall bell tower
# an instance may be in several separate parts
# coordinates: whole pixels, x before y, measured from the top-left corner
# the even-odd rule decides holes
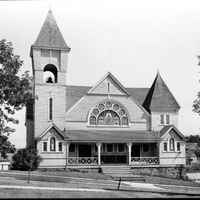
[[[47,14],[36,42],[32,45],[32,47],[66,49],[70,51],[70,48],[65,43],[65,40],[53,17],[51,9]]]

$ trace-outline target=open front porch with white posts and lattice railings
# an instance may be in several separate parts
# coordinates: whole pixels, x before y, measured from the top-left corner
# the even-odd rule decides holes
[[[71,143],[67,145],[67,167],[95,167],[109,164],[159,165],[156,143]]]

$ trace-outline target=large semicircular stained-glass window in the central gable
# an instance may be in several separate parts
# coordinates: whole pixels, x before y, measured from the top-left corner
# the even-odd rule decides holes
[[[114,101],[99,103],[91,110],[89,116],[89,125],[128,126],[125,109]]]

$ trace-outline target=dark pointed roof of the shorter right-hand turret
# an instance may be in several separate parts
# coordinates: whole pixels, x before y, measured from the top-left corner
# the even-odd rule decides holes
[[[150,112],[154,109],[180,109],[180,106],[158,71],[143,106]]]

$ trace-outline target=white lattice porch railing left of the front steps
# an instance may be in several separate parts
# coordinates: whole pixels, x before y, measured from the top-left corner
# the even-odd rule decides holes
[[[97,165],[98,158],[94,157],[69,157],[68,165]]]

